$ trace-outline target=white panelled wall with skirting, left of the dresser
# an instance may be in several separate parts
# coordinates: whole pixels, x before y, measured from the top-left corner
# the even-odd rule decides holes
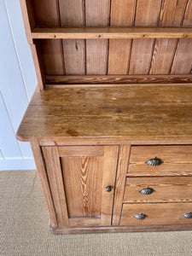
[[[0,0],[0,170],[35,169],[29,143],[15,133],[37,86],[20,0]]]

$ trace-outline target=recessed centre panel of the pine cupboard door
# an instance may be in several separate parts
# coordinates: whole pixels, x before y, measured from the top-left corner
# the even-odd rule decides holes
[[[62,156],[61,168],[68,217],[101,218],[102,156]]]

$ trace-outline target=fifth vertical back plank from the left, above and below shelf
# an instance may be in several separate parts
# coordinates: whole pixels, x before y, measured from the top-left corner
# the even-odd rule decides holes
[[[160,0],[137,0],[135,26],[156,26]],[[130,74],[148,74],[154,39],[134,39],[131,47]]]

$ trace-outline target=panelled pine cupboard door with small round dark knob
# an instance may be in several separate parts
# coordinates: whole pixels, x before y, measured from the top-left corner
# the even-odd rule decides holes
[[[119,146],[42,149],[58,227],[111,225]]]

